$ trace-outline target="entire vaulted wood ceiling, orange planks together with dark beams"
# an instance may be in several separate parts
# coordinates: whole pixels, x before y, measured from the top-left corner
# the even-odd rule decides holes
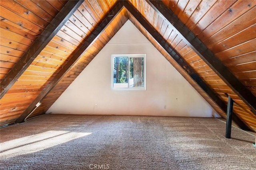
[[[127,20],[206,101],[256,131],[255,0],[1,1],[1,125],[44,114]]]

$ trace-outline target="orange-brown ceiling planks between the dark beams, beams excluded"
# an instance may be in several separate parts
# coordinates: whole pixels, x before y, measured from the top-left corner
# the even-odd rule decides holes
[[[251,110],[252,108],[202,60],[186,39],[177,33],[173,25],[154,10],[146,0],[129,0],[129,2],[152,25],[158,36],[174,49],[222,102],[227,104],[227,95],[231,96],[235,102],[233,109],[235,115],[251,130],[256,131],[256,115]],[[162,2],[255,97],[256,1],[164,0]],[[10,73],[16,63],[20,64],[20,58],[37,41],[38,36],[67,3],[65,0],[1,1],[1,81]],[[123,2],[86,0],[79,6],[1,98],[1,125],[16,121],[28,107],[31,107],[31,103],[37,103],[35,99],[42,94],[45,87],[51,84],[55,76],[79,50],[85,50],[81,49],[83,44],[88,41],[98,26],[111,16],[110,12],[118,3]],[[226,116],[226,110],[220,108],[216,101],[212,100],[192,80],[184,68],[177,64],[146,31],[144,25],[141,25],[126,8],[122,8],[110,24],[99,33],[95,41],[92,41],[90,48],[84,51],[67,72],[63,73],[59,81],[56,82],[56,86],[49,88],[49,91],[40,100],[42,105],[30,117],[44,114],[128,19],[222,117]]]

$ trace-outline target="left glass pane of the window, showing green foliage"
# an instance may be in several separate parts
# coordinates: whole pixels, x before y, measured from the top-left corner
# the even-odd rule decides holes
[[[114,57],[114,88],[128,88],[128,57]]]

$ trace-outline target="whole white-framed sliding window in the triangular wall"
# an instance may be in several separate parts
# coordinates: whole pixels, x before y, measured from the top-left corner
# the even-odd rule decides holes
[[[146,90],[146,54],[112,55],[112,88]]]

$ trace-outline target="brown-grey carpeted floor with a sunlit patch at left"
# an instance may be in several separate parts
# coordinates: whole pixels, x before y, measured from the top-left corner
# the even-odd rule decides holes
[[[214,118],[45,115],[0,129],[3,170],[256,169],[255,137]]]

